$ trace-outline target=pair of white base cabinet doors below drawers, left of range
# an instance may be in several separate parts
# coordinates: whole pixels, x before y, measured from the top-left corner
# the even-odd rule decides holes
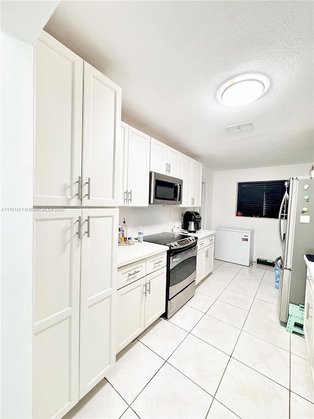
[[[161,253],[160,259],[166,261]],[[159,260],[160,260],[159,259]],[[138,264],[145,260],[138,261]],[[148,259],[146,259],[148,261]],[[133,265],[133,264],[130,264]],[[124,271],[129,265],[118,269]],[[133,267],[130,266],[130,274]],[[155,272],[137,279],[118,290],[117,295],[117,345],[120,352],[132,340],[140,335],[164,312],[166,307],[166,267],[159,267]]]

